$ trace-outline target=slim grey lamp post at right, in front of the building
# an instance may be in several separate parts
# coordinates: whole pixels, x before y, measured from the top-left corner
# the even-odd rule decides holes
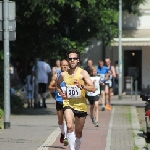
[[[122,0],[119,0],[119,88],[118,99],[122,100]]]

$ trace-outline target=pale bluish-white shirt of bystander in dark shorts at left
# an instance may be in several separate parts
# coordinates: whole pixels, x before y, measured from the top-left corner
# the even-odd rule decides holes
[[[32,71],[35,72],[35,66]],[[44,61],[38,61],[38,83],[48,83],[48,73],[51,72],[51,67]]]

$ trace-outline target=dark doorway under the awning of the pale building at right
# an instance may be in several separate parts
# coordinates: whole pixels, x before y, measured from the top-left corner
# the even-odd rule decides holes
[[[133,77],[133,89],[135,80],[138,81],[138,90],[141,90],[142,82],[142,50],[124,50],[124,77]]]

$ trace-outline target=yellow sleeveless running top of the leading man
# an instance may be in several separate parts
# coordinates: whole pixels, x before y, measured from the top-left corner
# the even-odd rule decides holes
[[[82,69],[77,67],[75,74],[69,75],[68,72],[64,74],[64,82],[67,87],[67,99],[63,101],[63,107],[69,106],[74,110],[87,112],[87,103],[85,98],[85,90],[80,89],[74,85],[74,80],[78,80],[80,84],[84,85],[84,81],[80,79]]]

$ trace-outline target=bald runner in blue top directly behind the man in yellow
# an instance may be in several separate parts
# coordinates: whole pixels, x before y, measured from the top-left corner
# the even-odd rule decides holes
[[[61,72],[67,71],[68,69],[68,62],[66,60],[62,60],[60,63],[61,67]],[[60,76],[60,73],[55,73],[52,76],[52,80],[49,85],[49,90],[54,91],[55,90],[55,100],[56,100],[56,110],[57,110],[57,116],[58,116],[58,125],[61,130],[61,137],[60,137],[60,142],[64,143],[64,146],[68,145],[67,141],[67,127],[66,127],[66,122],[64,122],[64,115],[63,115],[63,99],[59,95],[59,93],[56,91],[56,81],[58,80]],[[60,86],[62,89],[65,89],[66,86],[64,82],[60,83]]]

